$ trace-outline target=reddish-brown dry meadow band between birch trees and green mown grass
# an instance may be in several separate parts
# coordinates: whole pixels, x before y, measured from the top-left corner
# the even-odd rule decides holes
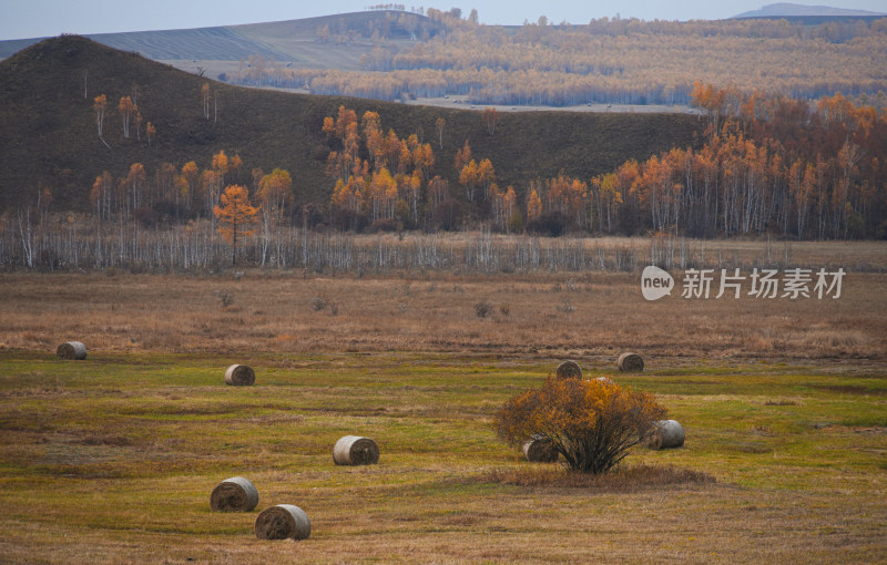
[[[748,275],[748,273],[745,273]],[[680,279],[675,278],[677,285]],[[461,351],[612,359],[854,359],[887,353],[887,276],[842,297],[648,302],[640,277],[0,275],[0,348],[90,351]],[[478,306],[482,305],[483,316]],[[655,361],[653,361],[655,362]]]

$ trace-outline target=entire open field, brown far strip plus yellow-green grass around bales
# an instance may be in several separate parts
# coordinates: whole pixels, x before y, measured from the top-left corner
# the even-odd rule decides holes
[[[1,562],[887,562],[884,274],[794,301],[646,302],[639,274],[598,273],[3,274],[0,291]],[[70,339],[86,360],[54,357]],[[648,370],[614,374],[624,350]],[[603,480],[524,462],[492,414],[565,358],[656,394],[686,444]],[[224,384],[234,362],[254,387]],[[335,466],[346,434],[379,464]],[[257,508],[212,513],[235,475]],[[309,540],[256,540],[277,503]]]

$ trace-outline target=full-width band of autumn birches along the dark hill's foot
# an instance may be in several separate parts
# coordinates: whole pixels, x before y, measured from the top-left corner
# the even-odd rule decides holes
[[[203,168],[190,161],[101,172],[88,216],[51,214],[52,192],[42,187],[0,217],[4,237],[17,242],[4,253],[28,267],[52,263],[47,253],[59,255],[58,246],[69,249],[68,264],[71,255],[106,266],[169,251],[177,265],[208,265],[223,247],[236,261],[239,246],[248,261],[282,266],[294,264],[294,242],[330,229],[887,238],[886,112],[840,94],[813,104],[702,82],[692,96],[708,122],[699,146],[522,186],[499,186],[491,160],[468,141],[441,163],[442,117],[426,141],[386,131],[376,112],[340,106],[322,124],[327,206],[303,204],[288,171],[248,170],[220,150]],[[495,143],[495,110],[480,119]]]

